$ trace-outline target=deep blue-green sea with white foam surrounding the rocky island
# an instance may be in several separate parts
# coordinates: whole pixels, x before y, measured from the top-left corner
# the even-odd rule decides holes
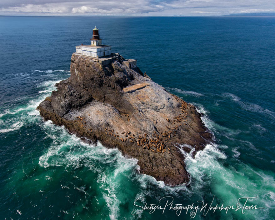
[[[112,52],[204,114],[215,141],[185,155],[189,186],[141,175],[136,159],[39,116],[95,25]],[[275,17],[0,16],[0,48],[1,219],[275,219]],[[197,201],[207,207],[179,208]]]

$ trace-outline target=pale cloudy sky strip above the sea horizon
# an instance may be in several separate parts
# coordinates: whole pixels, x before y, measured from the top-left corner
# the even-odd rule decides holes
[[[275,0],[0,0],[0,15],[212,16],[275,13]]]

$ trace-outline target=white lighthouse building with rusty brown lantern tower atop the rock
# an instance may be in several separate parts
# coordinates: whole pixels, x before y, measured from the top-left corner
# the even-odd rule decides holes
[[[76,46],[76,54],[81,54],[83,56],[92,57],[92,58],[100,58],[111,55],[111,46],[103,45],[99,38],[98,28],[95,27],[93,29],[93,38],[91,40],[91,45],[83,45]]]

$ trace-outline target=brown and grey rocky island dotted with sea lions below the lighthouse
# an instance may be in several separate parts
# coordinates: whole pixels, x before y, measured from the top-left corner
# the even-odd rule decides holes
[[[127,68],[122,59],[103,66],[73,54],[71,76],[39,104],[41,116],[83,141],[100,141],[137,158],[140,173],[172,186],[187,183],[177,146],[190,145],[195,155],[211,134],[194,106],[143,77],[139,68]]]

